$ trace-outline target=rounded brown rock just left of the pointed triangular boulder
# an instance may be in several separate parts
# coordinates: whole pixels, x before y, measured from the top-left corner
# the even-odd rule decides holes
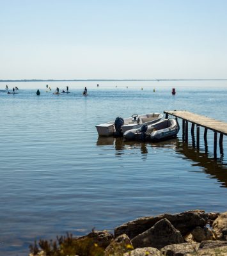
[[[133,249],[132,243],[129,237],[125,234],[116,237],[114,241],[107,246],[104,255],[105,256],[118,256],[123,255],[125,252],[130,252]]]

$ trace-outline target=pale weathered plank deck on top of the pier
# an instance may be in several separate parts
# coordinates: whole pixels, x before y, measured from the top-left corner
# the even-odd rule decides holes
[[[226,122],[215,120],[203,115],[198,115],[196,113],[191,113],[189,111],[164,111],[164,113],[182,118],[185,121],[191,122],[192,124],[196,124],[201,127],[205,127],[214,132],[227,135]]]

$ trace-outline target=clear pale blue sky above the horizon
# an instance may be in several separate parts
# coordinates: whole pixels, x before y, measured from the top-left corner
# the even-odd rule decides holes
[[[0,79],[227,79],[226,0],[0,0]]]

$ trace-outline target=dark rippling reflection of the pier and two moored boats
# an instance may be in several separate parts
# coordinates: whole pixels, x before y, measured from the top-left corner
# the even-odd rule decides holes
[[[173,148],[176,154],[180,154],[180,158],[191,161],[192,166],[198,166],[201,171],[207,173],[208,178],[217,179],[221,183],[221,187],[227,188],[227,164],[223,163],[223,156],[219,159],[210,157],[208,154],[207,140],[205,140],[205,152],[200,152],[200,150],[194,147],[194,141],[194,136],[192,136],[192,145],[189,145],[178,138],[160,141],[159,143],[145,143],[139,141],[125,141],[123,138],[99,137],[97,146],[105,147],[113,145],[117,156],[125,154],[125,150],[139,149],[141,150],[141,154],[146,156],[149,147]],[[190,172],[194,171],[191,170]]]

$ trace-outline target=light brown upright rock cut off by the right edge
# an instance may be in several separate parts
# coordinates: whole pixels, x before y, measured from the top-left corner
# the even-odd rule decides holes
[[[219,240],[227,240],[227,212],[220,214],[213,223],[213,229]]]

